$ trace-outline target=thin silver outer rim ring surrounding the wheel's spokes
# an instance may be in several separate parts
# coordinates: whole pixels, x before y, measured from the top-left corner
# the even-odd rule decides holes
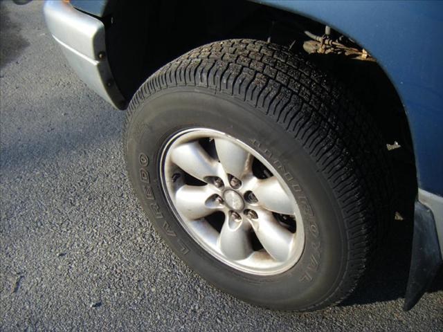
[[[184,139],[183,139],[184,137]],[[177,142],[180,142],[182,144],[183,142],[189,142],[192,140],[197,140],[200,138],[224,138],[231,140],[232,142],[235,142],[235,144],[239,145],[248,153],[252,154],[255,158],[257,158],[261,163],[264,164],[266,168],[268,168],[273,176],[276,176],[278,178],[278,182],[280,185],[284,187],[284,191],[293,199],[294,202],[294,210],[295,214],[293,214],[296,217],[296,234],[293,239],[293,249],[291,251],[291,257],[287,259],[287,261],[284,262],[277,262],[277,261],[270,261],[269,259],[266,260],[266,257],[264,257],[263,252],[255,251],[253,254],[251,254],[250,257],[242,260],[233,260],[228,257],[226,257],[220,250],[215,246],[214,244],[208,243],[208,241],[205,241],[201,237],[201,234],[198,234],[195,228],[190,227],[190,222],[192,223],[199,223],[199,221],[194,220],[187,220],[186,217],[183,217],[181,213],[177,210],[177,208],[174,205],[174,201],[172,200],[172,195],[174,191],[172,190],[172,185],[170,181],[166,181],[166,175],[169,172],[166,172],[165,169],[171,169],[171,165],[174,165],[172,163],[172,160],[170,160],[170,156],[168,156],[168,152],[171,151],[171,148],[177,144]],[[169,157],[169,158],[168,158]],[[283,177],[280,175],[280,173],[269,163],[268,160],[260,154],[259,151],[256,149],[253,149],[253,147],[247,145],[246,143],[242,142],[242,140],[239,140],[233,136],[230,136],[227,133],[224,133],[222,131],[218,131],[216,129],[210,129],[210,128],[204,128],[204,127],[194,127],[194,128],[188,128],[183,129],[181,131],[178,131],[174,133],[170,138],[165,142],[163,145],[162,151],[161,151],[161,158],[159,163],[159,174],[160,174],[160,180],[161,180],[161,189],[163,191],[163,194],[165,196],[166,201],[168,202],[168,205],[170,209],[172,210],[174,216],[179,221],[181,227],[183,227],[184,230],[196,241],[201,248],[203,248],[206,252],[208,252],[210,255],[221,261],[222,263],[230,266],[231,268],[235,268],[236,270],[240,270],[244,273],[252,274],[252,275],[277,275],[279,273],[283,273],[287,270],[289,270],[291,267],[293,267],[300,259],[302,252],[305,248],[305,229],[303,225],[302,216],[300,213],[300,209],[298,208],[298,204],[296,202],[295,197],[293,196],[291,190],[289,189],[289,186],[284,181]],[[172,175],[172,174],[168,174]],[[227,221],[226,221],[227,222]],[[212,226],[210,226],[212,227]],[[266,255],[267,254],[266,252]],[[258,264],[258,266],[254,266],[262,262],[262,264]]]

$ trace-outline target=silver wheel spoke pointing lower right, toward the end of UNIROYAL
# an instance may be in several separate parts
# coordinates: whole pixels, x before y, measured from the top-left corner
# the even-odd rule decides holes
[[[284,228],[269,211],[257,211],[251,224],[263,248],[277,261],[285,261],[291,253],[293,234]]]

